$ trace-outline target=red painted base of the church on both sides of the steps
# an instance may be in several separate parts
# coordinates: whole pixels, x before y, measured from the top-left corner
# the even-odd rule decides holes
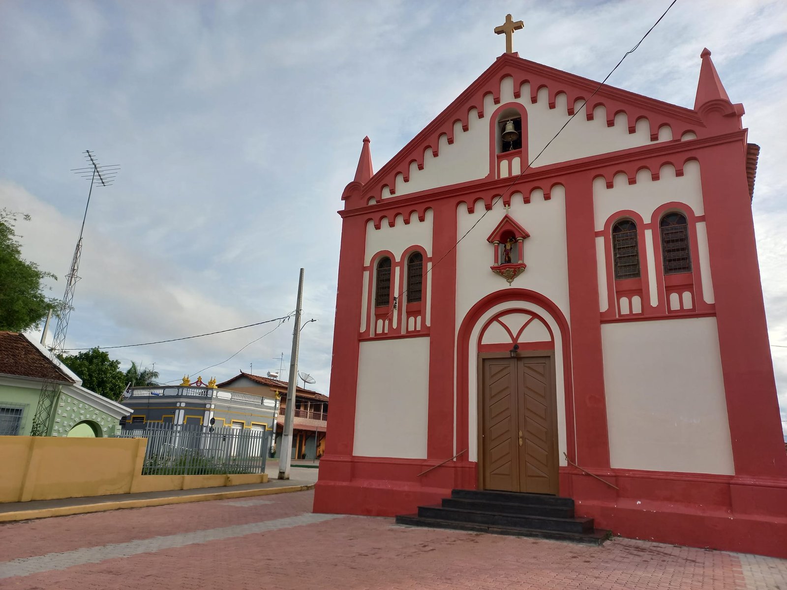
[[[476,463],[323,457],[314,511],[395,516],[439,503],[451,489],[475,489]],[[577,516],[616,535],[787,559],[787,478],[735,478],[633,470],[590,470],[618,490],[560,468],[560,495]]]

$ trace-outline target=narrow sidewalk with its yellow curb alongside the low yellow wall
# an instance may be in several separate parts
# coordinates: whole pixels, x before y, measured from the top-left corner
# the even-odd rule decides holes
[[[286,492],[300,492],[313,489],[311,478],[279,480],[275,476],[264,484],[220,486],[217,488],[176,489],[165,492],[140,492],[135,494],[111,494],[84,498],[61,498],[58,500],[33,500],[30,502],[0,503],[0,522],[66,516],[68,514],[87,514],[120,510],[122,508],[142,508],[204,502],[206,500],[228,500],[249,496],[269,496]]]

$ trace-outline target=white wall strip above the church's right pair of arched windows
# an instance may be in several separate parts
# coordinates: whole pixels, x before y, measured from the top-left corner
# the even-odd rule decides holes
[[[637,183],[629,184],[626,175],[615,176],[615,186],[607,188],[604,179],[593,180],[593,213],[596,230],[604,230],[609,216],[624,209],[635,211],[650,222],[653,212],[664,203],[678,201],[689,205],[697,216],[705,214],[700,183],[700,164],[686,162],[682,176],[675,176],[673,166],[667,164],[660,171],[659,180],[650,175],[637,175]]]

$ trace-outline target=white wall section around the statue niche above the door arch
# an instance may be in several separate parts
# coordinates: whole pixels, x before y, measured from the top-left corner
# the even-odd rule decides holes
[[[456,209],[457,235],[462,236],[484,214],[482,201],[475,212],[467,207]],[[486,213],[478,226],[456,246],[456,330],[470,308],[482,297],[501,289],[531,289],[553,301],[567,318],[568,263],[566,252],[566,200],[562,186],[552,190],[552,199],[532,197],[525,204],[519,194],[512,197],[510,215],[530,234],[524,244],[525,271],[514,279],[511,287],[504,278],[495,275],[493,245],[487,236],[505,214],[503,200]],[[473,355],[475,358],[475,354]]]

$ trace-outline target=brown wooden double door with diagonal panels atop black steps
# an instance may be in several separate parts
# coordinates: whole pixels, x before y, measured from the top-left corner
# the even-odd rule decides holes
[[[481,359],[482,489],[558,493],[554,357],[533,355]]]

